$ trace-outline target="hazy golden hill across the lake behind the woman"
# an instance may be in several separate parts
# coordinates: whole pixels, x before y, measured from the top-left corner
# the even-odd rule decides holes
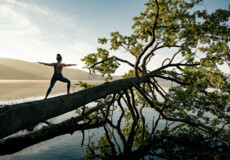
[[[49,80],[53,72],[53,67],[35,62],[0,58],[0,80]],[[71,80],[89,79],[89,73],[79,69],[64,68],[63,75]],[[93,79],[102,78],[93,76]]]

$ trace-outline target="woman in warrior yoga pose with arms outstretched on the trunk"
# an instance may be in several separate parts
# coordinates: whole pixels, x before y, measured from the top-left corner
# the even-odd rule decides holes
[[[65,83],[68,83],[67,85],[67,94],[71,94],[69,92],[69,89],[70,89],[70,80],[68,80],[67,78],[63,77],[62,75],[62,69],[63,67],[68,67],[68,66],[76,66],[76,64],[64,64],[64,63],[61,63],[62,62],[62,56],[60,54],[57,54],[57,63],[43,63],[43,62],[38,62],[40,64],[44,64],[44,65],[47,65],[47,66],[54,66],[54,74],[53,74],[53,77],[51,79],[51,82],[50,82],[50,87],[49,89],[47,90],[47,93],[46,93],[46,97],[45,99],[47,99],[48,95],[50,94],[54,84],[56,83],[57,80],[61,81],[61,82],[65,82]]]

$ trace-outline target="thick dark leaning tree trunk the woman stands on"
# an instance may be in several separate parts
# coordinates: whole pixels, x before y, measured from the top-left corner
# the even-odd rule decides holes
[[[0,139],[62,115],[107,95],[131,88],[134,84],[147,81],[141,78],[121,79],[104,83],[93,88],[81,90],[68,96],[58,96],[47,100],[38,100],[3,107],[0,110]]]

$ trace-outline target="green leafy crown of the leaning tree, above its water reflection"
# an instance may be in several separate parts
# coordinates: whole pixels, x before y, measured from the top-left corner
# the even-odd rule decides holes
[[[145,11],[133,18],[131,35],[116,31],[110,38],[99,38],[105,48],[82,60],[90,72],[106,75],[107,80],[123,63],[130,66],[123,78],[147,78],[120,93],[134,122],[139,119],[138,107],[151,107],[160,119],[178,122],[170,135],[201,134],[229,144],[230,78],[219,67],[230,68],[230,9],[208,13],[201,9],[202,0],[149,0],[145,5]],[[165,49],[171,56],[153,69],[155,55],[165,54]],[[159,79],[174,85],[165,89]]]

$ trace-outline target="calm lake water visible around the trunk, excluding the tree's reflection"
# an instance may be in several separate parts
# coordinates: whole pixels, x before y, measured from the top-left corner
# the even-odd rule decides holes
[[[50,81],[46,80],[2,80],[0,81],[0,105],[43,99],[49,87],[49,83]],[[78,83],[78,81],[72,81],[71,92],[80,90],[79,86],[75,86],[76,83]],[[103,81],[88,81],[88,83],[100,84],[103,83]],[[66,94],[66,84],[57,82],[50,97],[62,94]],[[91,103],[88,106],[92,107],[94,105],[95,103]],[[120,114],[120,110],[116,109],[113,113],[113,121],[118,121]],[[77,115],[75,111],[72,111],[49,121],[52,123],[59,123]],[[146,124],[149,126],[152,125],[153,116],[157,116],[153,110],[148,108],[143,109],[143,115],[146,117]],[[122,127],[124,127],[124,125],[125,123],[122,121]],[[161,126],[163,126],[163,122],[159,125],[159,127]],[[24,134],[25,132],[27,131],[18,132],[16,135]],[[72,135],[65,134],[58,136],[25,148],[17,153],[0,156],[0,160],[78,160],[85,156],[89,140],[97,143],[105,134],[103,127],[86,130],[84,133],[85,139],[83,146],[81,146],[83,137],[82,132],[76,131]],[[115,137],[118,138],[118,135],[115,135]],[[117,143],[121,144],[121,142]]]

